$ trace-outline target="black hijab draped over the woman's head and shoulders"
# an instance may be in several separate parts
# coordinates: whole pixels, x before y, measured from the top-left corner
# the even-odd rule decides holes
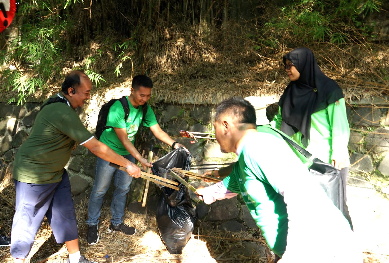
[[[329,104],[343,98],[343,93],[333,79],[321,72],[312,50],[296,48],[282,57],[284,64],[287,59],[297,68],[300,77],[289,82],[280,98],[281,131],[289,136],[300,131],[301,143],[307,147],[312,113],[326,109]]]

